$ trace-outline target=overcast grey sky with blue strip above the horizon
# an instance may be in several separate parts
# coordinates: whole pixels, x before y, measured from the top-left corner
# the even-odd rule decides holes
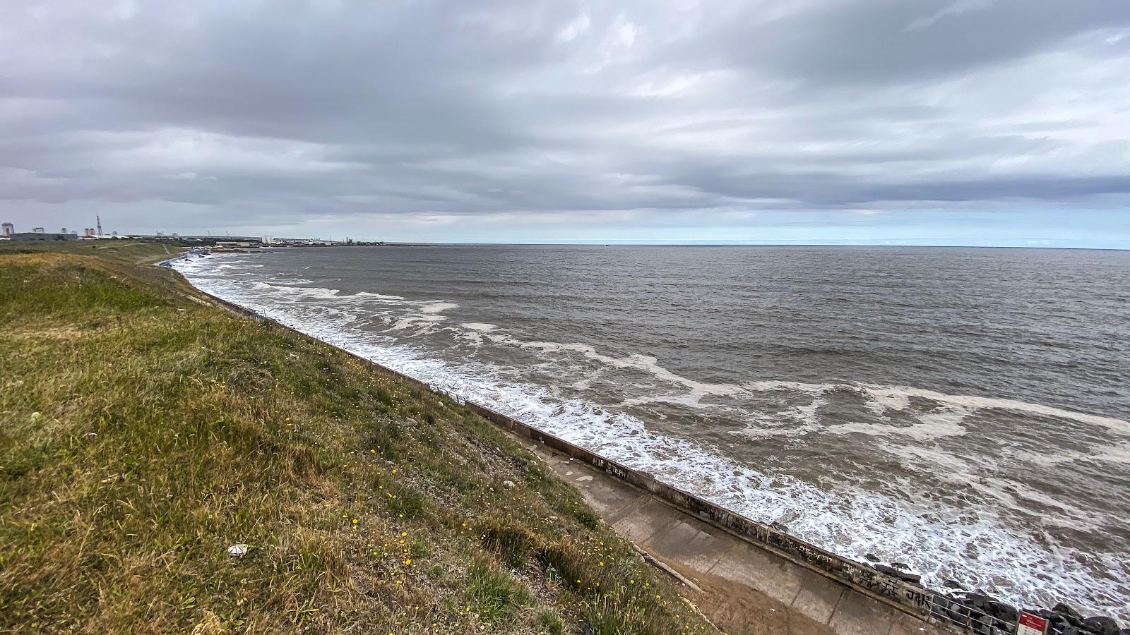
[[[1130,249],[1127,0],[0,0],[17,230]]]

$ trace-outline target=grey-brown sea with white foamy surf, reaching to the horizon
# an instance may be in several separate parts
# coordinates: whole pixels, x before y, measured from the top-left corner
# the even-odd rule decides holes
[[[845,556],[1130,619],[1130,252],[314,247],[177,269]]]

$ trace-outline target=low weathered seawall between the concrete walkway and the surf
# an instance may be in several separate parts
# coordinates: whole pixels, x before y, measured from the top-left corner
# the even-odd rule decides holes
[[[176,259],[171,259],[165,262],[172,262],[172,260]],[[159,264],[168,267],[168,264],[165,264],[164,262]],[[200,293],[207,295],[231,311],[251,316],[260,322],[278,324],[275,320],[255,313],[250,308],[240,306],[238,304],[234,304],[207,292]],[[298,332],[303,337],[310,337],[301,331],[295,332]],[[397,376],[410,384],[427,389],[432,392],[442,393],[483,418],[522,438],[528,438],[545,445],[546,447],[556,450],[557,452],[564,453],[572,459],[584,461],[612,478],[649,492],[653,496],[666,501],[677,508],[703,519],[713,525],[723,528],[762,549],[776,554],[780,557],[801,565],[829,580],[854,589],[902,612],[921,619],[924,623],[958,626],[964,630],[973,632],[977,635],[1010,635],[1016,633],[1017,626],[1015,621],[1009,624],[1008,621],[994,619],[984,612],[955,601],[950,597],[879,572],[867,564],[857,563],[837,554],[833,554],[832,551],[790,536],[782,529],[747,519],[746,516],[723,508],[714,503],[711,503],[710,501],[695,496],[694,494],[684,492],[666,482],[661,482],[644,472],[634,470],[617,461],[612,461],[611,459],[606,459],[605,456],[590,452],[584,447],[574,445],[564,438],[548,434],[507,415],[503,415],[497,410],[493,410],[472,401],[467,401],[458,394],[447,392],[446,390],[428,384],[427,382],[423,382],[410,375],[406,375],[399,371],[382,366],[372,359],[366,359],[348,350],[341,348],[339,348],[339,350],[342,350],[347,355],[365,362],[366,364],[372,364],[382,372]]]

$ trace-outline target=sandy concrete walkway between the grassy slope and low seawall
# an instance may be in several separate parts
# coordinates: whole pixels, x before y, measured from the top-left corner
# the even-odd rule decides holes
[[[530,449],[577,487],[606,522],[697,584],[701,592],[685,588],[685,594],[725,633],[954,633],[755,547],[586,463],[541,445]]]

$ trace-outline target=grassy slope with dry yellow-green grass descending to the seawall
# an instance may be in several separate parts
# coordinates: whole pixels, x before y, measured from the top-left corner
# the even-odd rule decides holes
[[[52,249],[0,250],[0,632],[711,630],[451,400],[136,264],[160,245]]]

